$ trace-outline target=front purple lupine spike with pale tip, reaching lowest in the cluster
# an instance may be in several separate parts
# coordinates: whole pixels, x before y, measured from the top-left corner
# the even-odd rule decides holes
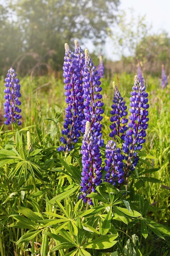
[[[95,187],[102,183],[102,159],[99,145],[96,139],[94,139],[89,121],[86,121],[81,154],[83,168],[80,190],[82,194],[79,196],[79,199],[82,198],[84,203],[88,201],[90,205],[93,205],[93,201],[91,198],[88,198],[88,194],[95,192]]]

